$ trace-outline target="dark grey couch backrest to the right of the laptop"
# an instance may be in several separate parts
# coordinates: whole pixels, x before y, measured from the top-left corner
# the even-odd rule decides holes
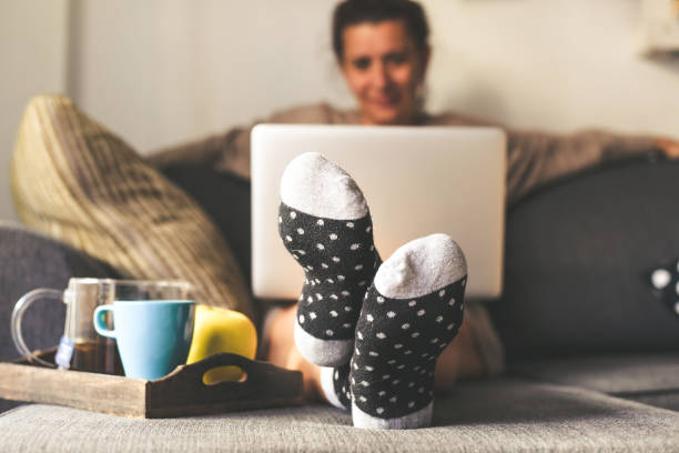
[[[538,191],[507,215],[505,292],[489,304],[509,362],[679,351],[647,271],[679,256],[679,162],[629,162]]]

